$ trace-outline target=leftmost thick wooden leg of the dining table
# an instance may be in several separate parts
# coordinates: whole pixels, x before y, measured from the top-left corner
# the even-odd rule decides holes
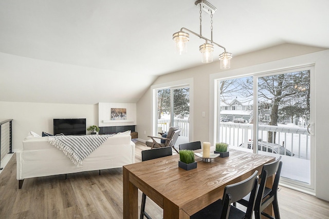
[[[129,180],[129,171],[123,167],[123,218],[138,218],[138,188]]]

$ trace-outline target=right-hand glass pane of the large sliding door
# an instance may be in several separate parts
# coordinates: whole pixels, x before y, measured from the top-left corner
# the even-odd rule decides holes
[[[282,177],[310,183],[309,70],[258,78],[258,150],[282,156]],[[263,150],[261,150],[261,148]]]

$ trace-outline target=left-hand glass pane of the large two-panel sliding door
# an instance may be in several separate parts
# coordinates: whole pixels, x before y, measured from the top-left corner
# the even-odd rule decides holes
[[[217,142],[225,142],[230,148],[247,150],[253,133],[252,77],[218,81],[218,97],[218,109],[221,110],[218,115]]]

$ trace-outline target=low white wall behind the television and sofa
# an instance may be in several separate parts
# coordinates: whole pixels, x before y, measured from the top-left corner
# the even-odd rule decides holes
[[[87,128],[98,124],[98,106],[83,104],[45,104],[0,102],[0,118],[12,118],[13,151],[23,147],[29,131],[53,133],[53,118],[86,118]]]

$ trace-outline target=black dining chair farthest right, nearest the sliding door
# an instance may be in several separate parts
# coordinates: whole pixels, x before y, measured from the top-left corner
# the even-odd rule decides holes
[[[255,207],[254,207],[254,214],[255,219],[260,219],[262,215],[266,216],[267,218],[272,219],[280,219],[280,212],[279,212],[279,205],[278,205],[278,187],[281,175],[281,168],[282,168],[282,161],[281,156],[275,162],[264,164],[262,173],[261,173],[261,180],[260,186],[258,189]],[[266,187],[266,182],[268,177],[275,176],[272,187]],[[247,198],[248,196],[242,198],[241,200],[237,201],[237,203],[247,206]],[[263,212],[264,209],[269,206],[270,204],[273,205],[273,211],[275,217]]]

